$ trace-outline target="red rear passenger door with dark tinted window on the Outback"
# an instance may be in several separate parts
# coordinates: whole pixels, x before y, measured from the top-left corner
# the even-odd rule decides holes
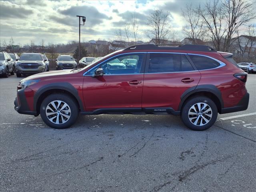
[[[178,110],[181,95],[195,88],[200,77],[185,53],[148,53],[142,108]]]

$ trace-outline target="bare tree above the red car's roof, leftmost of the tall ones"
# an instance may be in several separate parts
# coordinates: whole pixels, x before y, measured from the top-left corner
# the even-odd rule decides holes
[[[170,32],[170,13],[164,13],[162,10],[154,10],[149,15],[148,26],[150,29],[147,32],[148,38],[155,38],[156,44],[161,44],[163,40],[166,40],[168,33]]]

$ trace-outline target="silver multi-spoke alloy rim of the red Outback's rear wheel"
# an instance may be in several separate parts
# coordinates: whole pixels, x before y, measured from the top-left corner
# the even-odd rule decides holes
[[[188,119],[196,126],[204,126],[212,119],[212,108],[206,103],[196,103],[188,110]]]

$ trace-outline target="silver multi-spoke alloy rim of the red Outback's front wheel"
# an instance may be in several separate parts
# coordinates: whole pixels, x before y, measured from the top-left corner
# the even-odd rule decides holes
[[[48,120],[54,124],[64,124],[71,116],[70,106],[61,100],[50,102],[45,112]]]

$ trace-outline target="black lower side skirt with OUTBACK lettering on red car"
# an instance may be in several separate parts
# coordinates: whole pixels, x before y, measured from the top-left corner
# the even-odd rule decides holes
[[[97,114],[134,114],[134,115],[180,115],[180,111],[173,108],[102,108],[94,111],[80,112],[81,115],[97,115]]]

